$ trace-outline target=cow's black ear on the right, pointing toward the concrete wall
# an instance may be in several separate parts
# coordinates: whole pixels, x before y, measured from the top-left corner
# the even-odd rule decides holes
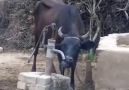
[[[84,49],[84,50],[90,50],[91,48],[94,48],[94,46],[95,46],[95,43],[90,40],[81,43],[81,49]]]

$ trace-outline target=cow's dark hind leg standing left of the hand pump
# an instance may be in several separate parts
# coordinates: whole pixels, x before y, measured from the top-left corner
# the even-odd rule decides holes
[[[33,61],[32,69],[31,69],[32,72],[36,72],[36,58],[37,58],[38,50],[39,50],[38,39],[39,39],[38,36],[35,36],[35,52],[34,52],[34,61]]]

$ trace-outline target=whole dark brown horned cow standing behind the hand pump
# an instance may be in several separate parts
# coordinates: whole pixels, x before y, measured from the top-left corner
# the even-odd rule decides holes
[[[57,49],[61,50],[66,60],[59,58],[59,67],[61,74],[64,75],[65,68],[71,68],[71,86],[74,88],[74,70],[80,49],[89,50],[94,47],[94,42],[85,40],[84,36],[80,36],[84,31],[81,17],[73,5],[64,4],[62,0],[42,0],[38,1],[34,10],[35,17],[35,44],[37,44],[41,31],[46,25],[56,23],[59,29],[59,34],[55,37]],[[47,39],[51,38],[52,30],[49,29]],[[39,47],[39,45],[38,45]],[[38,54],[38,47],[34,53],[34,62],[32,71],[36,71],[36,57]]]

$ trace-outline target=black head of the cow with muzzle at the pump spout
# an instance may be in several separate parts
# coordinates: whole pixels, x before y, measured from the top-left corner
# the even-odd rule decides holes
[[[69,68],[76,63],[80,49],[90,50],[95,45],[93,41],[83,41],[84,37],[64,35],[61,28],[58,30],[58,35],[63,38],[61,44],[57,45],[56,48],[60,49],[65,55],[66,59],[61,61],[64,68]]]

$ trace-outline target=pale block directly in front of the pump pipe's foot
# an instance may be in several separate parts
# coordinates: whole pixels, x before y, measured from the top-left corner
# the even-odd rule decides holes
[[[47,75],[42,75],[40,77],[37,77],[37,84],[39,85],[50,85],[52,84],[52,78],[51,76],[47,76]]]

